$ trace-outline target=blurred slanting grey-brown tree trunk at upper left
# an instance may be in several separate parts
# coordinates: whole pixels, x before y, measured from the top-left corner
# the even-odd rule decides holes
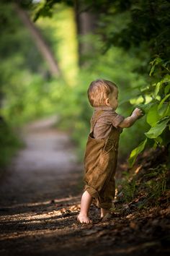
[[[44,38],[40,34],[40,31],[35,27],[35,24],[30,20],[27,12],[25,12],[19,5],[14,4],[14,9],[19,15],[20,19],[24,23],[24,25],[30,30],[32,38],[35,40],[38,50],[40,54],[42,54],[45,61],[48,63],[49,71],[52,76],[59,76],[61,74],[58,64],[53,57],[53,53],[50,50],[49,46],[45,42]]]

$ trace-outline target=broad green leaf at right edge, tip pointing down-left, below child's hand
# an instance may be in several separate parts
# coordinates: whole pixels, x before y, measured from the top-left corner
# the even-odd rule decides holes
[[[151,127],[148,132],[145,132],[146,137],[150,139],[156,139],[166,128],[166,124],[169,122],[170,117],[167,116],[161,121],[158,121],[155,127]]]

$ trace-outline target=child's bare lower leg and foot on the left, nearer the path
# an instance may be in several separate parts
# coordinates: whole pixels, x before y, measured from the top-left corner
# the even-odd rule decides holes
[[[79,216],[77,217],[78,221],[81,223],[91,223],[89,219],[89,208],[92,202],[92,197],[89,192],[85,191],[81,197],[81,210]]]

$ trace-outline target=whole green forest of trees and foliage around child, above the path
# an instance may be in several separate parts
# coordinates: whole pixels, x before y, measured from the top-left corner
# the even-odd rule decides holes
[[[97,78],[118,85],[119,114],[139,104],[146,113],[122,132],[120,158],[133,150],[132,165],[144,148],[167,153],[169,11],[166,0],[1,1],[1,167],[22,146],[19,129],[54,114],[82,160],[93,111],[86,90]]]

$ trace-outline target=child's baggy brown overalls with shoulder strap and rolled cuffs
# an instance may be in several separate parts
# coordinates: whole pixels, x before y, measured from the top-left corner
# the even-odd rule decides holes
[[[109,137],[94,139],[93,130],[102,110],[91,119],[91,131],[86,143],[84,155],[84,190],[96,200],[99,208],[109,210],[115,198],[115,171],[117,168],[117,150],[122,128],[113,127]]]

